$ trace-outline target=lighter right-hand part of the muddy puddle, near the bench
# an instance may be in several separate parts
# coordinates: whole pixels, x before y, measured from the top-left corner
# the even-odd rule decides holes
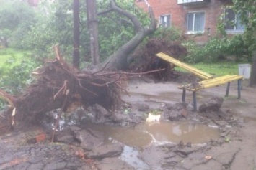
[[[218,128],[193,123],[141,123],[136,126],[136,130],[151,134],[154,140],[158,142],[205,143],[211,139],[219,138]]]

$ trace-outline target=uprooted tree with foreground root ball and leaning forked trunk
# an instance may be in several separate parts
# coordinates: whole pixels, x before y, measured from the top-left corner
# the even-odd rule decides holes
[[[33,72],[37,77],[36,82],[27,87],[25,93],[13,96],[0,89],[0,95],[11,105],[8,118],[12,126],[20,121],[38,120],[44,113],[57,108],[65,112],[69,105],[75,102],[81,103],[84,108],[97,103],[107,110],[115,110],[122,102],[120,90],[125,90],[122,87],[123,75],[143,74],[116,70],[128,68],[128,55],[136,49],[144,37],[156,29],[154,13],[149,4],[148,7],[151,23],[148,28],[144,28],[135,15],[121,9],[115,0],[110,0],[110,9],[102,11],[101,14],[116,11],[126,16],[133,23],[136,34],[111,55],[100,69],[78,70],[77,65],[71,66],[63,60],[58,46],[55,46],[56,59],[48,60],[44,67]],[[157,71],[157,68],[152,70]],[[148,73],[147,70],[141,72]]]

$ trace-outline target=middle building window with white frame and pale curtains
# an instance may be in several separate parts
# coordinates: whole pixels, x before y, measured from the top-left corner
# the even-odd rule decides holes
[[[203,33],[205,27],[205,13],[192,12],[187,14],[187,33]]]

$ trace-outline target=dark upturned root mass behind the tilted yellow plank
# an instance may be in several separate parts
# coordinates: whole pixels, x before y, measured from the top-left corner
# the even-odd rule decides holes
[[[164,68],[164,71],[152,73],[159,80],[172,80],[173,65],[156,57],[156,53],[164,52],[167,55],[179,59],[187,54],[187,49],[180,42],[169,42],[164,39],[149,39],[149,42],[138,47],[130,57],[131,72],[148,72]]]

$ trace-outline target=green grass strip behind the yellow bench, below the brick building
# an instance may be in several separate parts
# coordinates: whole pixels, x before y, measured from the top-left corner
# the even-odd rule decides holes
[[[221,76],[221,75],[239,75],[238,65],[244,63],[237,63],[237,62],[216,62],[216,63],[197,63],[197,64],[190,64],[193,67],[202,70],[204,72],[208,72],[211,75]],[[175,67],[175,70],[181,72],[187,72],[180,67]]]

